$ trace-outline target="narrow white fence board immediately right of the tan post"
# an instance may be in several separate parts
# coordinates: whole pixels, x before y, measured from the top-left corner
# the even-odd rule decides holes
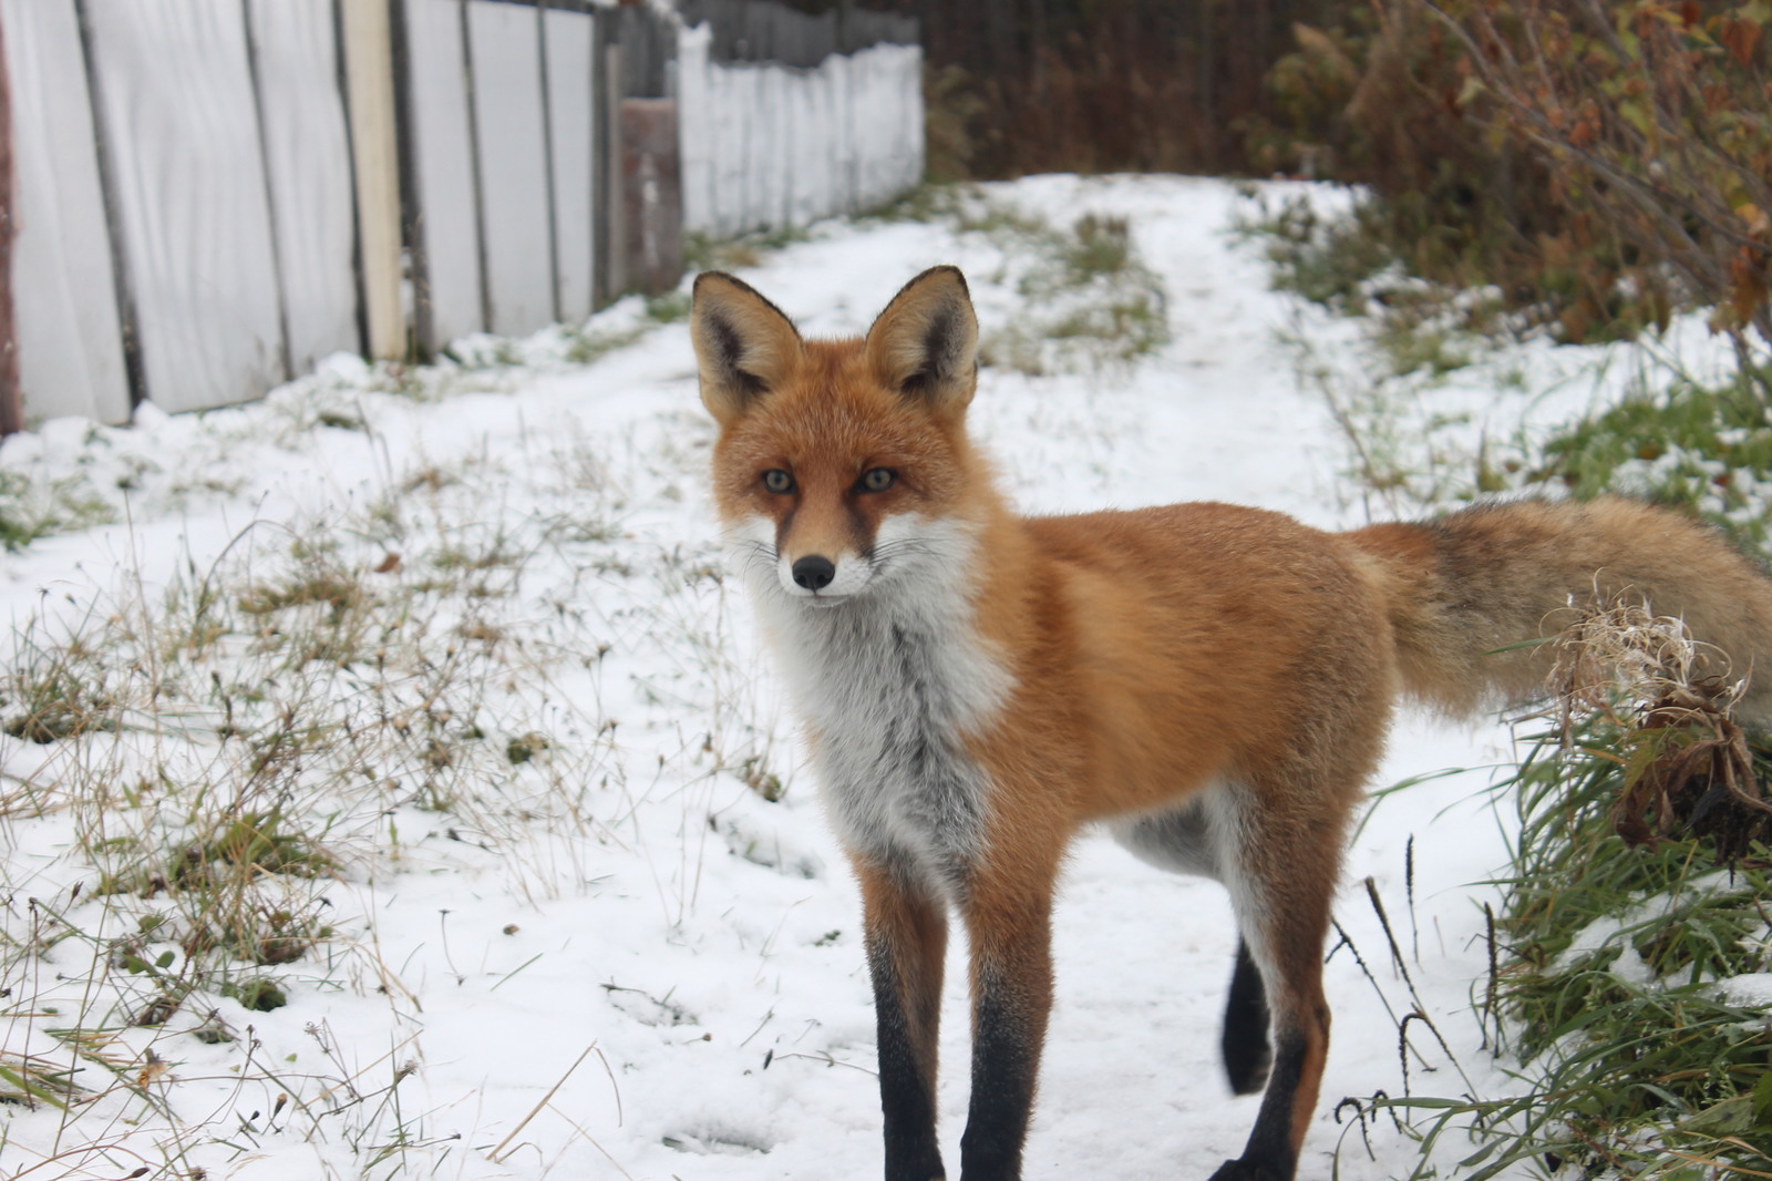
[[[418,344],[482,332],[480,213],[470,147],[462,0],[404,0]]]

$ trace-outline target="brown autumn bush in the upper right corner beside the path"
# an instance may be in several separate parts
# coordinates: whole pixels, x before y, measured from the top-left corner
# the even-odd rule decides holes
[[[1768,20],[1765,0],[1350,0],[1269,74],[1290,122],[1251,124],[1251,151],[1333,144],[1418,271],[1499,284],[1570,339],[1678,301],[1772,339]]]

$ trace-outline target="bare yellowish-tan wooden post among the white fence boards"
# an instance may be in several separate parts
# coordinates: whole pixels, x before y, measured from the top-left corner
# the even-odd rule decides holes
[[[369,355],[400,360],[406,356],[406,316],[400,309],[400,167],[388,0],[344,0],[342,16]]]

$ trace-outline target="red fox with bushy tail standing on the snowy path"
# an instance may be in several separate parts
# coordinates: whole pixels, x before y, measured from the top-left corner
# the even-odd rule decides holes
[[[714,500],[861,883],[888,1181],[946,1176],[948,913],[971,945],[962,1181],[1021,1176],[1053,1000],[1053,890],[1095,821],[1223,881],[1240,945],[1223,1057],[1265,1087],[1216,1181],[1286,1181],[1317,1105],[1322,950],[1393,699],[1540,690],[1572,601],[1630,592],[1772,667],[1772,582],[1628,500],[1512,502],[1345,534],[1224,504],[1015,516],[966,436],[978,323],[952,266],[849,340],[696,278]],[[1738,706],[1772,718],[1772,677]]]

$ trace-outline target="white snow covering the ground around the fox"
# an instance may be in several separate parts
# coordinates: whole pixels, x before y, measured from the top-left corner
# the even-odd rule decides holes
[[[1364,521],[1340,475],[1347,443],[1278,339],[1302,333],[1318,362],[1354,372],[1357,332],[1267,289],[1258,250],[1226,234],[1239,202],[1230,184],[1038,177],[992,199],[1061,225],[1084,211],[1127,216],[1168,287],[1173,333],[1129,367],[982,374],[973,431],[1019,504],[1212,498],[1324,527]],[[1022,314],[1015,262],[946,223],[822,225],[741,275],[806,332],[851,333],[936,262],[966,270],[987,333]],[[624,305],[594,328],[640,323]],[[462,750],[501,755],[510,739],[542,736],[526,761],[462,754],[443,802],[399,786],[422,775],[416,763],[349,791],[298,793],[310,825],[324,814],[337,856],[303,887],[319,901],[301,896],[323,908],[328,936],[269,970],[289,1004],[259,1013],[198,989],[154,1027],[129,1025],[151,974],[120,970],[117,949],[133,938],[135,954],[175,974],[188,950],[138,931],[142,913],[172,903],[152,890],[96,899],[97,871],[76,844],[115,832],[145,846],[177,832],[151,800],[149,780],[167,768],[232,782],[239,741],[214,716],[223,706],[190,704],[191,690],[183,708],[126,711],[117,732],[48,745],[0,736],[11,802],[0,816],[0,1005],[11,1005],[0,1068],[19,1060],[5,1055],[41,1055],[103,1091],[92,1043],[50,1032],[78,1018],[110,1030],[103,1052],[135,1087],[69,1110],[0,1108],[0,1176],[144,1165],[142,1176],[200,1167],[241,1179],[877,1174],[856,890],[746,605],[718,575],[703,470],[712,427],[688,333],[664,325],[588,365],[565,351],[544,333],[507,349],[521,364],[408,376],[337,360],[255,406],[147,411],[133,431],[51,422],[0,450],[0,465],[37,477],[131,488],[126,523],[0,555],[0,615],[25,637],[14,647],[117,621],[140,637],[165,617],[167,587],[190,598],[214,571],[229,585],[275,582],[299,560],[298,541],[312,550],[323,537],[328,560],[370,592],[390,587],[393,599],[404,587],[434,605],[406,638],[379,640],[390,667],[413,663],[377,693],[406,700],[425,660],[461,649],[477,661],[462,697],[475,736]],[[1483,371],[1460,378],[1485,422],[1517,418],[1531,401],[1522,390],[1563,362],[1540,348],[1508,364],[1527,371],[1512,394],[1481,390]],[[1591,395],[1574,379],[1563,388]],[[455,598],[420,587],[462,567],[487,582]],[[252,649],[246,635],[234,656],[191,667],[234,676],[214,661],[252,660]],[[301,676],[312,674],[264,674],[282,688],[260,697],[294,693]],[[354,676],[369,677],[328,672],[326,692]],[[358,681],[338,692],[369,693]],[[0,704],[0,718],[12,709]],[[438,716],[431,700],[413,709]],[[346,734],[356,715],[337,716],[331,732]],[[459,739],[461,716],[447,723]],[[1504,800],[1490,805],[1483,768],[1508,741],[1501,723],[1400,718],[1380,786],[1476,770],[1386,796],[1352,844],[1338,919],[1354,947],[1329,959],[1334,1044],[1302,1176],[1411,1170],[1414,1144],[1387,1117],[1366,1121],[1370,1147],[1352,1108],[1336,1119],[1343,1096],[1506,1085],[1469,1000],[1488,963],[1481,881],[1504,864],[1508,814]],[[335,754],[312,752],[305,773]],[[135,777],[140,791],[106,796],[105,816],[57,805],[57,784],[106,777]],[[776,777],[780,802],[746,777]],[[46,938],[46,913],[80,935]],[[1079,844],[1058,910],[1058,1005],[1030,1179],[1170,1181],[1240,1151],[1256,1099],[1232,1098],[1217,1066],[1232,950],[1219,887],[1164,876],[1106,841]],[[962,954],[952,950],[955,963]],[[948,979],[941,1115],[957,1161],[966,977]],[[1405,1078],[1398,1023],[1418,1005],[1455,1060],[1411,1021]],[[216,1023],[230,1041],[191,1036]],[[1458,1147],[1448,1146],[1453,1160]]]

